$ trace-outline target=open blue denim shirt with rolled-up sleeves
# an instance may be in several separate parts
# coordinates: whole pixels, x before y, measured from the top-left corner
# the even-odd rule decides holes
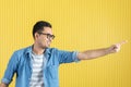
[[[15,87],[29,87],[32,75],[32,46],[15,51],[4,72],[2,83],[10,84],[16,73]],[[76,51],[62,51],[56,48],[47,48],[44,52],[44,87],[59,87],[58,67],[62,63],[80,61]]]

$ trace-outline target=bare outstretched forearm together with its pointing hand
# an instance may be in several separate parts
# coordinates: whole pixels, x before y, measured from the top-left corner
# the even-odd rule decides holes
[[[104,57],[110,53],[116,53],[120,50],[121,45],[126,44],[127,41],[122,41],[120,44],[112,45],[108,48],[103,48],[103,49],[96,49],[96,50],[87,50],[84,52],[80,52],[78,54],[78,58],[80,60],[90,60],[90,59],[95,59],[99,57]]]

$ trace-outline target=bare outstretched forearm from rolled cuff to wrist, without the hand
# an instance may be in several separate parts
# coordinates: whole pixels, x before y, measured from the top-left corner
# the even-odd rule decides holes
[[[104,57],[109,53],[110,52],[109,52],[108,48],[87,50],[87,51],[79,53],[79,59],[80,60],[95,59],[95,58]]]

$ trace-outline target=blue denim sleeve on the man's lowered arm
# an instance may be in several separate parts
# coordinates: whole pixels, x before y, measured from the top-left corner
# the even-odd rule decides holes
[[[16,67],[17,67],[17,55],[14,52],[9,61],[9,64],[4,72],[4,76],[1,82],[9,85],[12,82],[12,77],[14,73],[16,72]]]

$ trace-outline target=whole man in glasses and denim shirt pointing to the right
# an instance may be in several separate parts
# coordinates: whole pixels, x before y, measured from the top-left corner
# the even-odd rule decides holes
[[[58,67],[61,63],[78,62],[115,53],[126,41],[111,47],[84,52],[49,48],[55,35],[48,22],[33,27],[34,45],[17,50],[11,57],[0,87],[8,87],[16,73],[15,87],[59,87]]]

